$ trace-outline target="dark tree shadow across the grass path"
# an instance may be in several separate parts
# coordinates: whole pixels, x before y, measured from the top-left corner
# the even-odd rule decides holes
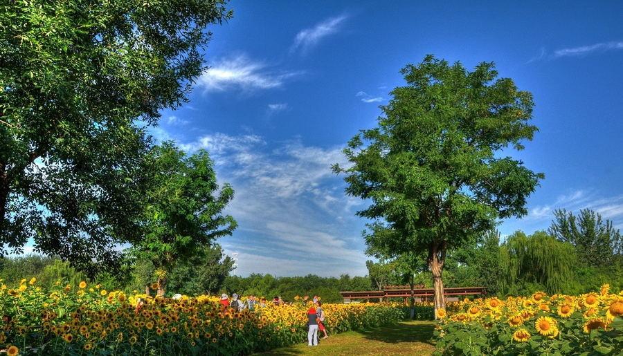
[[[415,324],[417,323],[417,324]],[[397,344],[399,342],[421,342],[433,345],[433,330],[435,324],[422,322],[401,322],[395,325],[383,326],[375,330],[360,330],[365,339]]]

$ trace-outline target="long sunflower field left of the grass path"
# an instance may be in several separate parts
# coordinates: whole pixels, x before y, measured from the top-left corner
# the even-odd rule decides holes
[[[0,281],[1,284],[1,281]],[[8,355],[246,355],[307,340],[307,306],[235,312],[216,297],[150,299],[99,285],[58,283],[52,290],[22,280],[0,287],[0,350]],[[323,305],[329,332],[397,322],[395,303]]]

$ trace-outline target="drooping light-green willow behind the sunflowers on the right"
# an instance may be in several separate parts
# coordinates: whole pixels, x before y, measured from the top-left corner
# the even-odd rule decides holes
[[[500,246],[501,282],[505,294],[534,292],[545,288],[548,293],[563,292],[572,282],[572,268],[577,260],[570,243],[557,241],[545,232],[526,236],[515,232]]]

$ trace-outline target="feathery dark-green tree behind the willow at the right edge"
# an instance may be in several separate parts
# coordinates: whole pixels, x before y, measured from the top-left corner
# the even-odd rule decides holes
[[[548,232],[559,241],[576,247],[580,261],[588,265],[612,265],[616,255],[623,254],[623,238],[612,221],[590,209],[582,209],[578,216],[565,209],[554,212],[554,221]]]

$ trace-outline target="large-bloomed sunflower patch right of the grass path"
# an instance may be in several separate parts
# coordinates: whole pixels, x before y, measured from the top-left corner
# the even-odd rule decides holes
[[[621,355],[623,292],[461,301],[440,310],[438,355]]]

